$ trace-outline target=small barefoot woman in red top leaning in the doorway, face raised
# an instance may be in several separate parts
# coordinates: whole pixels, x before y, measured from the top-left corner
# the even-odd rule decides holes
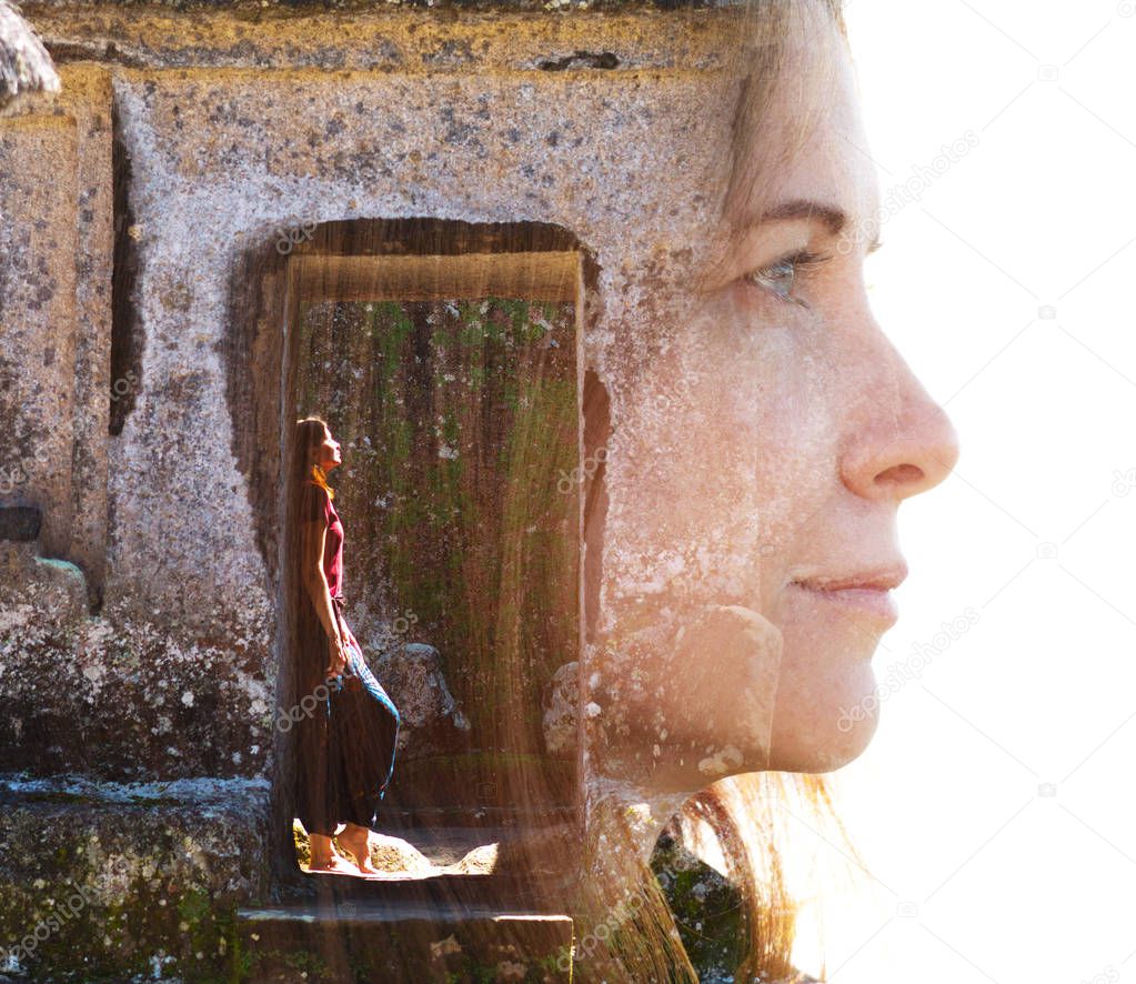
[[[291,556],[300,565],[295,681],[304,709],[296,731],[295,814],[308,833],[310,870],[377,875],[369,835],[394,772],[399,711],[343,617],[343,525],[326,481],[343,462],[340,444],[324,419],[306,417],[296,422],[292,450]],[[341,823],[336,840],[353,865],[333,843]]]

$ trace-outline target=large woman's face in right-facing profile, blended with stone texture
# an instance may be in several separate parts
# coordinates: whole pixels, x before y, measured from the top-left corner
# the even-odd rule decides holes
[[[755,636],[657,653],[670,662],[660,678],[680,683],[654,720],[671,723],[676,747],[696,745],[695,759],[726,749],[713,768],[730,773],[827,772],[870,740],[872,714],[849,728],[847,710],[874,692],[870,658],[894,623],[879,589],[905,574],[899,504],[939,483],[958,458],[950,420],[868,303],[879,191],[835,27],[830,43],[835,92],[818,95],[810,69],[820,44],[810,44],[763,139],[792,130],[797,78],[813,86],[822,118],[777,175],[766,218],[733,227],[693,317],[649,369],[646,386],[674,392],[682,381],[683,399],[668,402],[665,424],[625,432],[628,459],[655,462],[641,508],[657,551],[641,576],[667,582],[668,601],[682,599],[671,608],[692,612],[695,597],[741,606],[780,634],[779,657],[757,651]],[[815,590],[845,579],[876,590]],[[768,703],[746,687],[763,687]]]

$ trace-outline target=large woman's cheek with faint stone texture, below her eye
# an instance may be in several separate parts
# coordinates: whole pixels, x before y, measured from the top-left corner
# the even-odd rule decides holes
[[[836,426],[821,355],[800,326],[688,325],[626,406],[651,552],[692,595],[768,612],[804,520],[834,491]]]

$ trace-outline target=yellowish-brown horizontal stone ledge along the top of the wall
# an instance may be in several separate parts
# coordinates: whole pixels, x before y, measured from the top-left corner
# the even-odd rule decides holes
[[[324,70],[481,72],[634,68],[713,69],[733,11],[670,14],[646,5],[571,16],[516,7],[407,10],[369,6],[328,15],[257,8],[254,16],[206,7],[26,3],[24,16],[57,64],[131,68],[193,66]],[[676,35],[676,17],[683,31]],[[733,32],[736,34],[736,30]]]

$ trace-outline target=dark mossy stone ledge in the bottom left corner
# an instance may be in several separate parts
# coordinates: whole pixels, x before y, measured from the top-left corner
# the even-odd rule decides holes
[[[265,781],[0,779],[0,972],[33,979],[229,973],[267,883]]]

